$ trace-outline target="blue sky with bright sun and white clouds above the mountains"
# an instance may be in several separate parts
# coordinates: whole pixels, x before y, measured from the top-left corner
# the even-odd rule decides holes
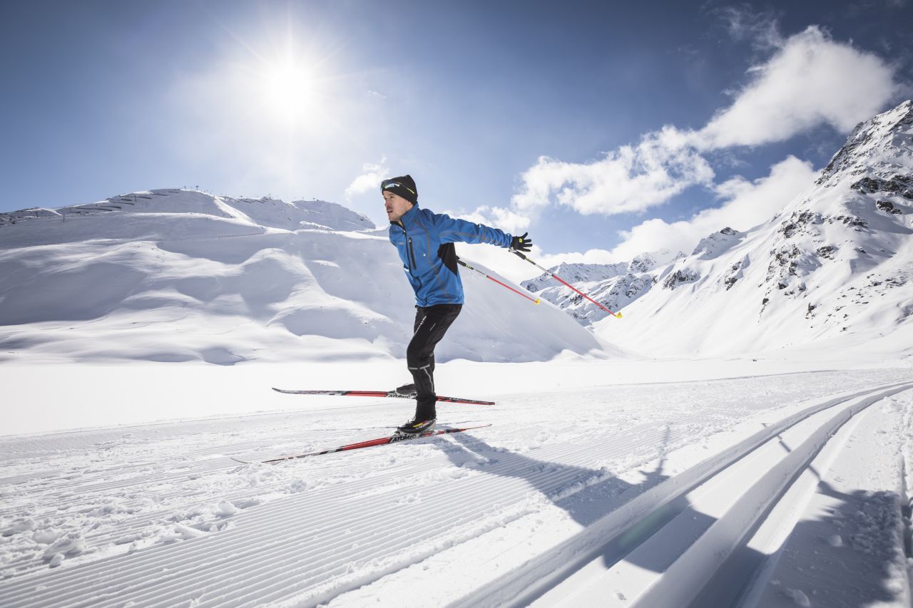
[[[188,186],[385,225],[410,173],[543,264],[686,250],[913,97],[911,2],[6,2],[0,211]]]

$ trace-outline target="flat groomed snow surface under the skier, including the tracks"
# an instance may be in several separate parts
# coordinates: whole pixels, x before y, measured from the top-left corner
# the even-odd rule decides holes
[[[909,605],[908,367],[473,365],[446,393],[498,404],[439,425],[492,426],[278,465],[231,457],[387,435],[412,404],[264,373],[291,411],[0,440],[0,605]]]

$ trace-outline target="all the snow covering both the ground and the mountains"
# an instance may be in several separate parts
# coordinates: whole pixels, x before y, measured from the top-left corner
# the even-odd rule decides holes
[[[0,215],[0,605],[908,606],[911,111],[770,222],[559,268],[623,319],[464,273],[436,389],[497,404],[438,424],[486,426],[277,465],[412,414],[270,390],[408,381],[383,227],[175,189]]]

